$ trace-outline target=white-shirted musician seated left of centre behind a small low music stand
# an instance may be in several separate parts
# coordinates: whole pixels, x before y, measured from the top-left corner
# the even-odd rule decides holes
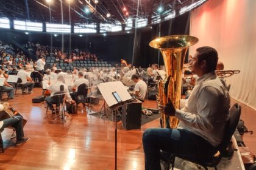
[[[57,77],[57,82],[54,84],[47,84],[46,89],[51,91],[51,96],[50,97],[46,97],[45,101],[48,104],[49,109],[52,110],[52,113],[55,113],[55,110],[53,109],[52,104],[54,103],[54,99],[52,98],[52,96],[56,93],[56,92],[60,92],[60,86],[63,86],[63,93],[65,93],[66,95],[66,101],[71,101],[72,99],[69,95],[69,91],[68,91],[68,86],[66,86],[66,84],[63,83],[64,82],[64,77],[63,75],[59,75]],[[59,110],[57,110],[59,111]]]

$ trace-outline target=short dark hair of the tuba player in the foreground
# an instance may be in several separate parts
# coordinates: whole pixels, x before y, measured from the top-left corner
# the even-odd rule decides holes
[[[218,63],[218,52],[213,47],[208,46],[199,47],[196,51],[199,53],[197,55],[198,63],[201,64],[205,60],[207,62],[207,71],[215,71]]]

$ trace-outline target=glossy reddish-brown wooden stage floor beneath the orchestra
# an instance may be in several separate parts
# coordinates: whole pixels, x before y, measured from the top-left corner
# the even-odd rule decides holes
[[[38,95],[41,95],[41,89],[35,88],[33,94],[18,94],[9,100],[11,106],[27,119],[24,132],[30,141],[13,146],[12,130],[5,128],[2,132],[5,152],[0,154],[0,169],[115,169],[115,123],[87,114],[82,105],[78,114],[69,115],[66,123],[52,120],[51,112],[46,114],[43,103],[32,103],[32,98]],[[102,104],[101,101],[94,105],[93,110],[99,111]],[[144,106],[155,107],[156,103],[145,101]],[[249,129],[256,131],[256,112],[251,111],[243,106],[242,118]],[[118,122],[118,169],[144,169],[141,137],[149,127],[160,127],[159,120],[130,131]],[[256,153],[255,135],[247,136],[245,143]]]

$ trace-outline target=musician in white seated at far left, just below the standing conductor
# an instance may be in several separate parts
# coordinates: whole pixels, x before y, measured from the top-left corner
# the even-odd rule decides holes
[[[35,83],[30,77],[29,69],[27,67],[24,67],[24,70],[20,70],[17,75],[19,78],[21,78],[20,84],[25,84],[29,90],[29,94],[32,93]],[[23,89],[23,93],[24,93],[24,89]]]

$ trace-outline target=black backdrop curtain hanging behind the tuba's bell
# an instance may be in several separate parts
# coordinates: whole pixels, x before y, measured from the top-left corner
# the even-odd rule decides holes
[[[149,46],[152,39],[160,36],[179,35],[190,33],[190,13],[185,13],[169,21],[152,25],[146,29],[137,29],[135,37],[135,46],[133,46],[133,66],[148,67],[151,64],[158,63],[158,50]],[[160,53],[160,65],[163,65],[162,54]]]

